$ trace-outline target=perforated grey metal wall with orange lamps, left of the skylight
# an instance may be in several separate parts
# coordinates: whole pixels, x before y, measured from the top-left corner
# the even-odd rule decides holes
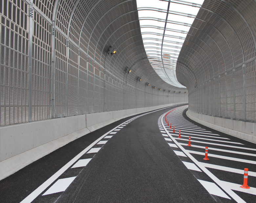
[[[150,65],[136,0],[3,0],[0,11],[1,126],[188,101]]]

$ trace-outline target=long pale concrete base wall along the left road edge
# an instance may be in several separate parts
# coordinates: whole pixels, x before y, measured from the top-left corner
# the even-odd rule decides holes
[[[0,180],[33,161],[117,120],[168,106],[91,113],[0,128]]]

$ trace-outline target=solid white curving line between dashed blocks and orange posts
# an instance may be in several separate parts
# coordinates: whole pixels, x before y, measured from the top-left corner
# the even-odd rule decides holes
[[[163,116],[161,117],[161,122],[163,125]],[[217,183],[227,194],[229,194],[237,203],[246,203],[240,196],[238,196],[236,193],[234,193],[231,189],[226,188],[223,184],[223,182],[218,179],[215,175],[213,175],[208,169],[206,169],[198,160],[196,160],[191,154],[189,154],[181,145],[179,142],[177,142],[166,130],[165,126],[163,125],[165,132],[167,135],[174,141],[174,143],[204,172],[206,173],[215,183]]]

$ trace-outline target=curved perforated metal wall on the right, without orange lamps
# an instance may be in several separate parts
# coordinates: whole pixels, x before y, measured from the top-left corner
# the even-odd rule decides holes
[[[191,111],[255,122],[255,8],[254,0],[203,2],[176,67]]]

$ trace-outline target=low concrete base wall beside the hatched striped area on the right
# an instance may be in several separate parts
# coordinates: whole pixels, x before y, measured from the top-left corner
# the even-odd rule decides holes
[[[256,143],[256,123],[223,119],[195,113],[190,110],[188,110],[186,114],[190,119],[209,128]]]

